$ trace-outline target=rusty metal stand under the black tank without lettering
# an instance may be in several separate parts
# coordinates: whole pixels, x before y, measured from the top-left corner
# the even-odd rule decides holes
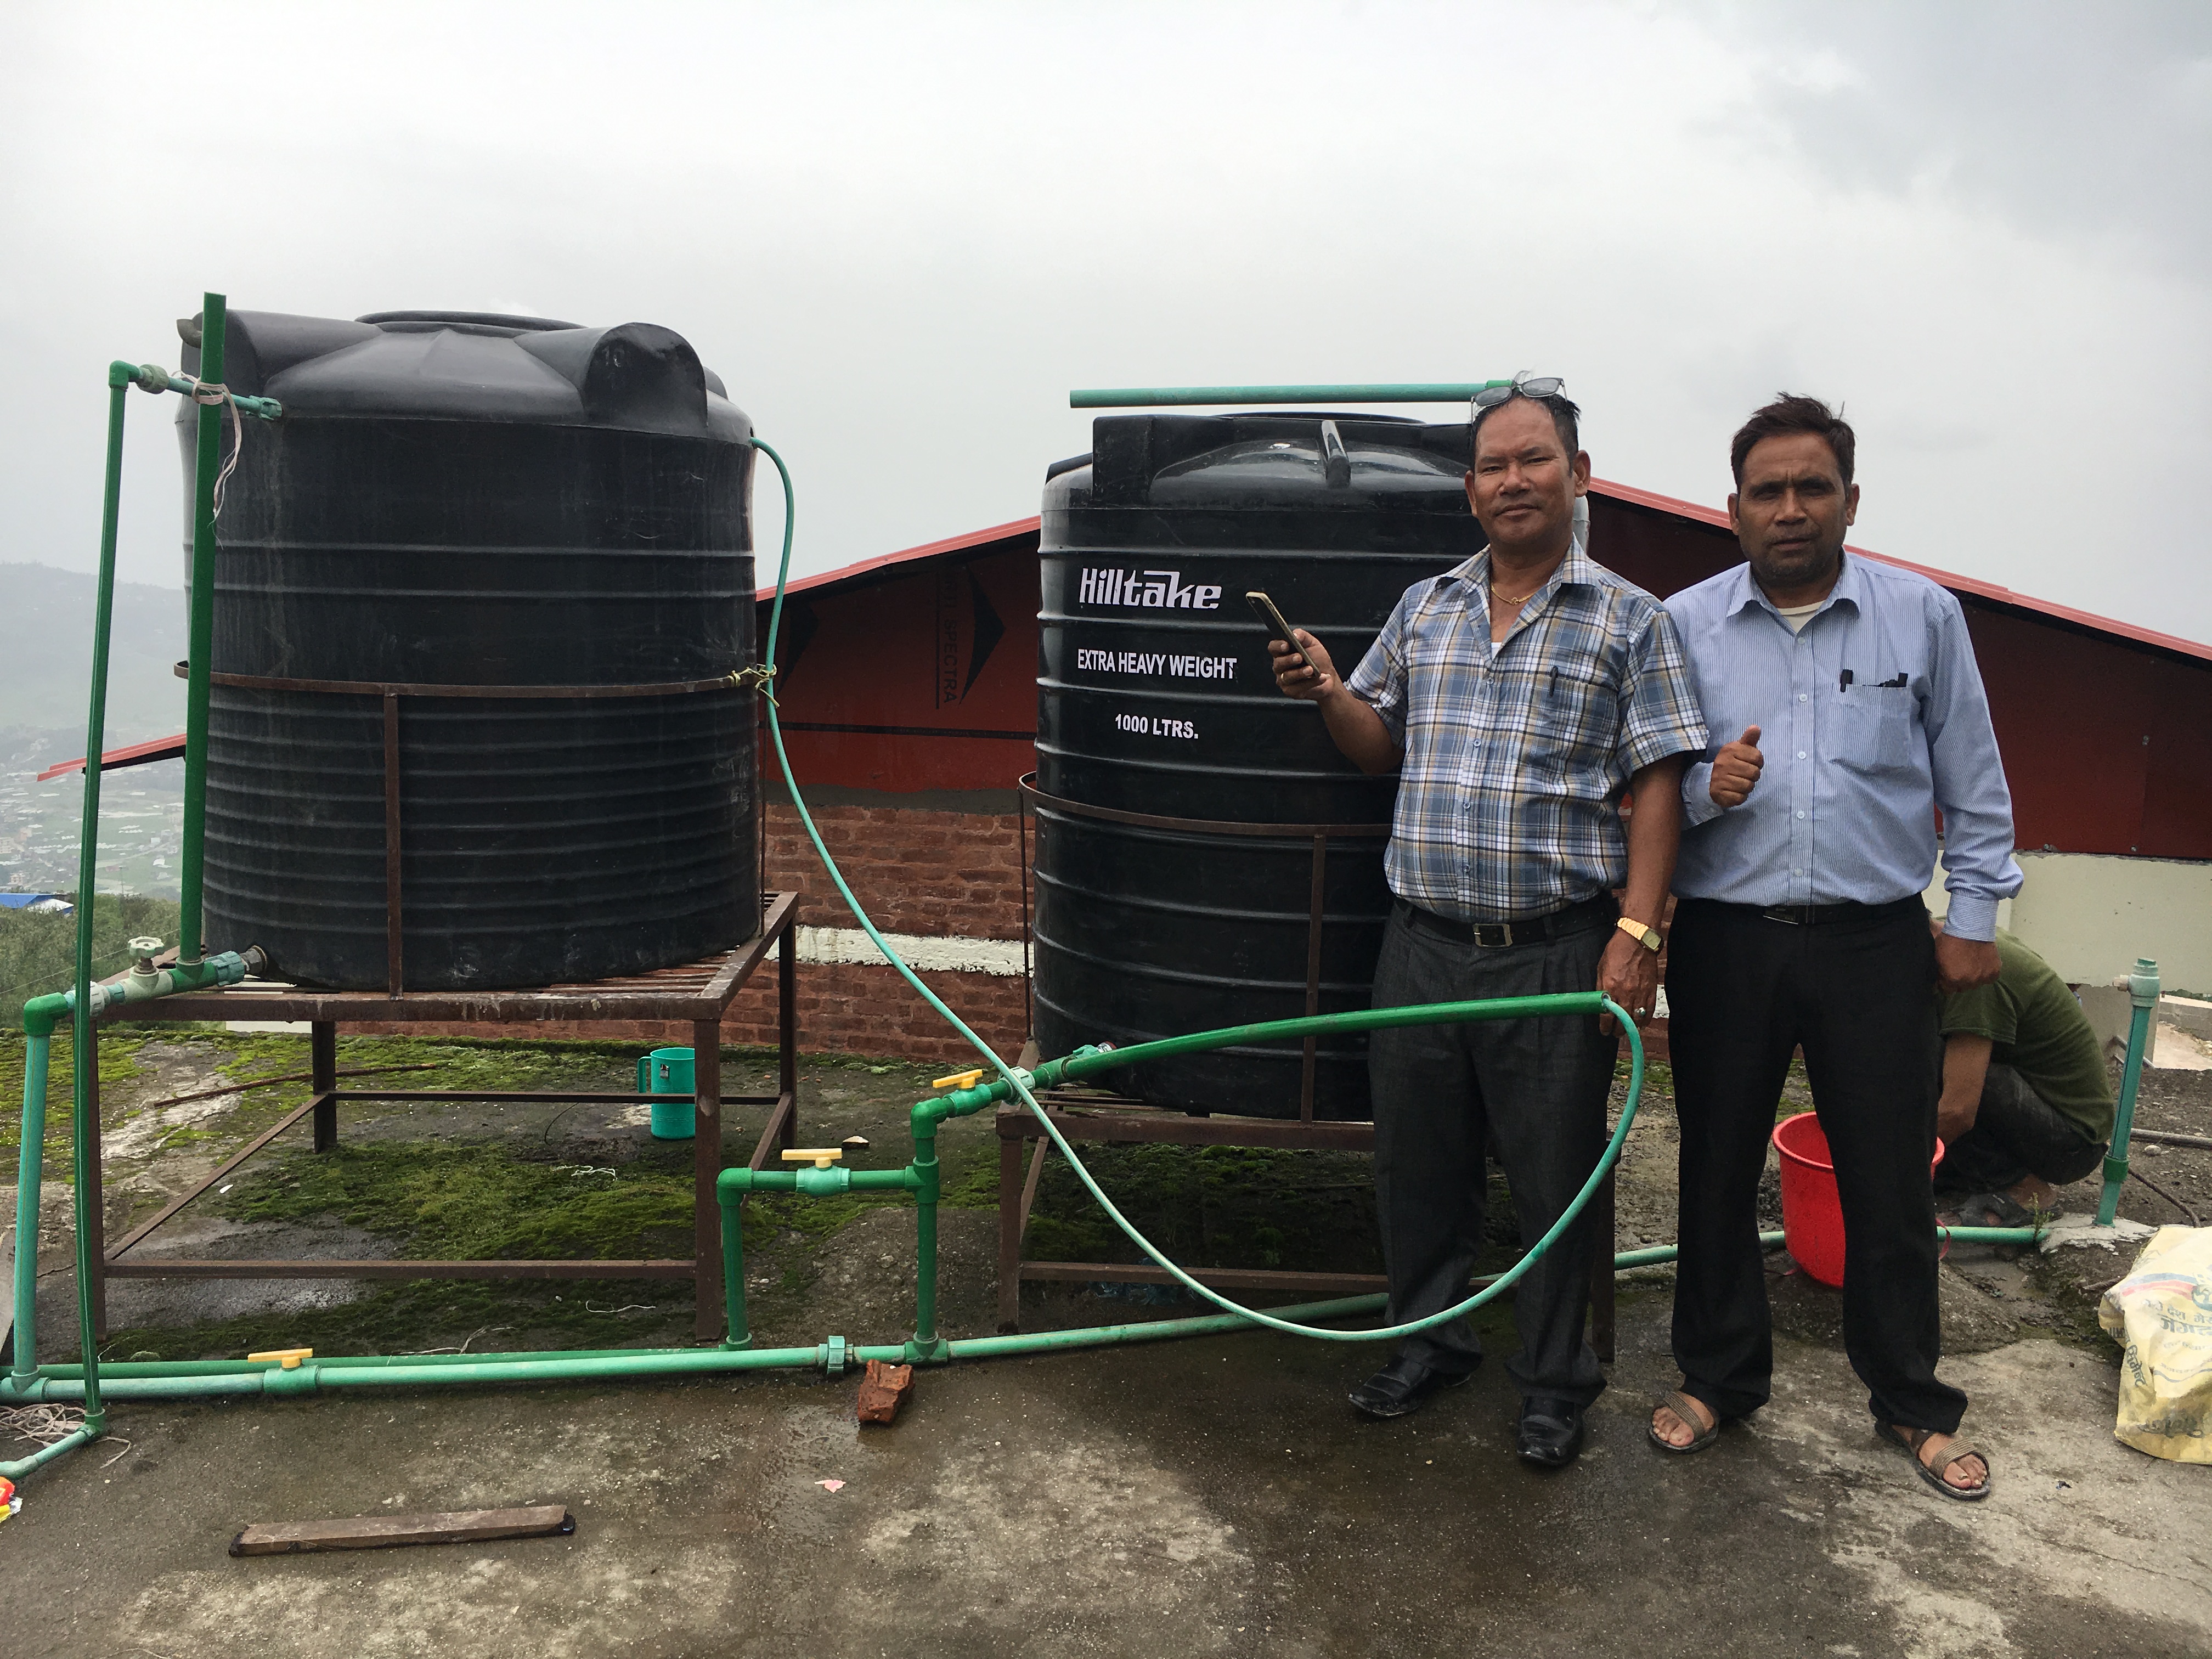
[[[549,984],[522,991],[307,991],[288,984],[237,984],[226,991],[197,991],[157,1002],[131,1002],[102,1018],[102,1024],[153,1024],[186,1020],[279,1020],[310,1022],[310,1088],[305,1106],[239,1150],[223,1168],[184,1197],[170,1201],[157,1217],[133,1228],[113,1250],[102,1248],[97,1225],[100,1197],[100,1053],[93,1051],[93,1102],[86,1121],[91,1137],[91,1192],[82,1214],[95,1228],[91,1259],[93,1316],[106,1332],[108,1279],[690,1279],[697,1298],[695,1334],[721,1334],[721,1208],[714,1181],[721,1177],[721,1106],[768,1106],[768,1126],[752,1150],[752,1168],[763,1168],[799,1135],[799,1042],[796,1042],[796,940],[799,894],[761,896],[761,931],[730,951],[688,967],[659,969],[591,984]],[[776,1093],[721,1093],[721,1020],[752,973],[776,951]],[[338,1144],[338,1106],[369,1099],[405,1102],[522,1102],[522,1104],[648,1104],[653,1095],[575,1093],[575,1091],[447,1091],[447,1088],[341,1088],[338,1026],[343,1024],[628,1024],[639,1020],[684,1020],[692,1026],[695,1110],[692,1141],[692,1254],[677,1261],[204,1261],[124,1256],[157,1228],[181,1212],[201,1192],[226,1181],[246,1159],[274,1141],[303,1117],[314,1119],[314,1150]],[[97,1037],[97,1033],[95,1033]]]

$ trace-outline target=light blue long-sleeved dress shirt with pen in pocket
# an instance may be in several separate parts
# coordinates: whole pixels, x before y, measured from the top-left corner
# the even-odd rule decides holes
[[[1790,624],[1752,566],[1666,602],[1712,739],[1683,774],[1674,891],[1730,905],[1887,905],[1936,874],[1942,810],[1951,916],[1989,940],[2020,891],[2013,796],[1958,599],[1913,571],[1843,555],[1827,602]],[[1765,770],[1712,801],[1712,757],[1756,726]]]

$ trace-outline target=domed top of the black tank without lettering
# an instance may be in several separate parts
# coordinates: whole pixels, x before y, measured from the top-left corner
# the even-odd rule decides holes
[[[199,372],[186,347],[186,374]],[[223,383],[288,418],[617,427],[743,440],[752,422],[681,334],[504,312],[230,312]]]

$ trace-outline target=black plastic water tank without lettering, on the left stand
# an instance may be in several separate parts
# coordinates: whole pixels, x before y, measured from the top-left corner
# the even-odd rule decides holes
[[[210,945],[307,984],[498,989],[752,938],[757,712],[728,681],[754,659],[752,422],[692,347],[232,312],[223,378],[285,414],[248,422],[217,522]]]

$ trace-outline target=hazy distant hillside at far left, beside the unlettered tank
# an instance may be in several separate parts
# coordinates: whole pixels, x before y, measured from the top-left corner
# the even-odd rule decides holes
[[[0,726],[84,732],[95,582],[51,564],[0,564]],[[184,588],[115,584],[108,748],[184,730]]]

